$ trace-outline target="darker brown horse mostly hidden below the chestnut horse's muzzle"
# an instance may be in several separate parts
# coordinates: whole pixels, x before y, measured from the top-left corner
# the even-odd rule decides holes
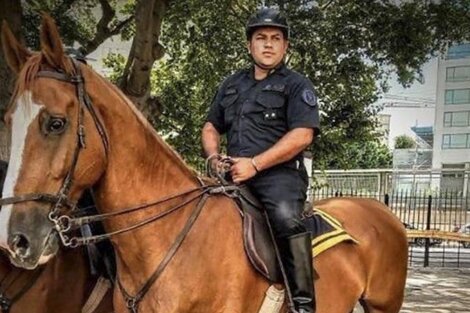
[[[2,187],[7,167],[0,160]],[[92,275],[88,262],[84,249],[60,249],[50,262],[28,271],[0,253],[0,312],[112,313],[110,283]]]

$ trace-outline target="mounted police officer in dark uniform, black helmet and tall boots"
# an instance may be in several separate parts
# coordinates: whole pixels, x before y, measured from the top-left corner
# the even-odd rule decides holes
[[[281,253],[297,312],[315,311],[311,235],[301,219],[308,176],[303,150],[319,130],[312,83],[286,67],[289,26],[262,8],[246,26],[253,66],[227,78],[202,130],[207,156],[218,156],[227,135],[230,173],[263,203]]]

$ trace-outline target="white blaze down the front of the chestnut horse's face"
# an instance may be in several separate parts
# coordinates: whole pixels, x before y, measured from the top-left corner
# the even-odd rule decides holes
[[[33,102],[30,91],[26,91],[19,96],[15,106],[15,111],[11,116],[11,153],[3,185],[3,198],[15,196],[14,190],[23,163],[28,129],[42,108],[42,106]],[[12,204],[8,204],[2,206],[0,210],[0,246],[6,249],[8,249],[8,228],[12,207]]]

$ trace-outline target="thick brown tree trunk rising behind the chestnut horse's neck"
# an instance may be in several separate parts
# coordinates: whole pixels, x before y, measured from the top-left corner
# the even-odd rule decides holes
[[[150,72],[154,62],[164,54],[158,40],[167,7],[168,0],[138,2],[135,12],[136,34],[119,81],[121,90],[147,117],[160,112],[158,100],[150,95]]]

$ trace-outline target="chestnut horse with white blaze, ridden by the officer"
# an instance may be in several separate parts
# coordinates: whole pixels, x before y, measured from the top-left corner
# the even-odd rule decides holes
[[[234,201],[208,197],[116,87],[68,58],[50,18],[43,19],[39,53],[29,54],[5,30],[3,37],[8,63],[19,73],[8,112],[16,164],[0,214],[7,226],[0,244],[12,261],[28,268],[47,262],[59,246],[54,227],[63,234],[69,225],[60,210],[92,186],[107,214],[101,218],[109,218],[106,231],[131,230],[112,237],[121,286],[116,312],[258,312],[270,283],[245,255]],[[317,312],[351,312],[357,301],[367,312],[398,312],[407,270],[400,221],[372,200],[318,205],[360,243],[339,244],[315,259]]]

